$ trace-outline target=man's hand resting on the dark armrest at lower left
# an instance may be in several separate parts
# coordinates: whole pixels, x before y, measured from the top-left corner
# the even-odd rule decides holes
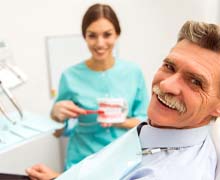
[[[60,175],[43,164],[36,164],[33,167],[26,169],[26,173],[31,180],[51,180]]]

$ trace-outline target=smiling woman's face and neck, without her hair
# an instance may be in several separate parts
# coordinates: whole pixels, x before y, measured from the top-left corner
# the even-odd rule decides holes
[[[88,26],[85,40],[92,57],[86,62],[95,71],[105,71],[114,65],[112,50],[118,38],[114,26],[105,18]]]

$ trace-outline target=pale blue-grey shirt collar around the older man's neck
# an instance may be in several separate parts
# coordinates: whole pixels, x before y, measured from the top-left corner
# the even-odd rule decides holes
[[[144,125],[139,137],[142,148],[165,148],[201,144],[207,135],[208,126],[192,129],[164,129]]]

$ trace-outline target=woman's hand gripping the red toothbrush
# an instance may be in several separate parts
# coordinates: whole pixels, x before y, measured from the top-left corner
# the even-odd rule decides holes
[[[75,118],[80,114],[86,114],[86,110],[78,107],[72,101],[60,101],[54,104],[51,117],[55,121],[63,122],[67,118]]]

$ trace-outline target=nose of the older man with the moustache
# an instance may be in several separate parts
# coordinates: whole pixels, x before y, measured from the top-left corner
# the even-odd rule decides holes
[[[179,95],[181,93],[182,80],[179,74],[173,74],[160,82],[160,89],[164,93]]]

